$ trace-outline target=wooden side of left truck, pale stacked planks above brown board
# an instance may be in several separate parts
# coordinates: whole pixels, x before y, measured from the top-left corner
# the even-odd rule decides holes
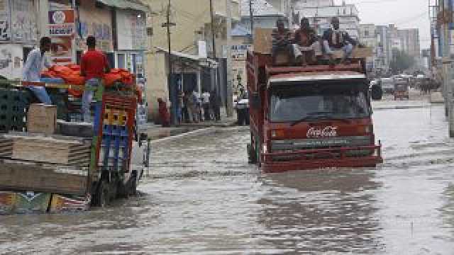
[[[0,191],[83,195],[90,141],[75,137],[0,135]]]

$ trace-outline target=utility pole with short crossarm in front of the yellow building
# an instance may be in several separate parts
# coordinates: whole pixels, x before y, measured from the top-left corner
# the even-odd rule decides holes
[[[170,122],[172,125],[177,124],[177,89],[175,88],[175,85],[172,84],[172,76],[173,76],[173,70],[172,70],[172,45],[170,43],[170,26],[176,26],[175,23],[170,23],[170,0],[169,3],[167,4],[167,23],[163,23],[162,27],[167,27],[167,50],[168,50],[168,61],[167,61],[167,68],[168,74],[167,74],[167,86],[169,88],[169,98],[170,98],[170,103],[172,104],[172,107],[170,108]]]

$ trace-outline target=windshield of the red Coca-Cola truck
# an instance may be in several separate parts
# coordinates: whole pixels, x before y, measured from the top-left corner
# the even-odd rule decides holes
[[[347,119],[370,116],[364,85],[324,84],[275,86],[271,89],[270,121]]]

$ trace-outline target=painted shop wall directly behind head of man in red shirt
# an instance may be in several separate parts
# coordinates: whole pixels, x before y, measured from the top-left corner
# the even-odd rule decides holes
[[[112,17],[109,7],[97,8],[94,1],[81,1],[79,6],[79,26],[77,28],[77,50],[86,50],[85,40],[88,35],[96,37],[96,47],[105,52],[113,52]]]

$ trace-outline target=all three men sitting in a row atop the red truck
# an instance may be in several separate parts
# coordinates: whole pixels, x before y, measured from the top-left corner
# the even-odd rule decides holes
[[[358,42],[340,29],[339,18],[331,19],[331,26],[323,33],[322,37],[311,28],[309,19],[302,18],[300,28],[292,33],[285,28],[284,21],[278,20],[277,28],[272,32],[272,61],[277,62],[279,52],[287,52],[292,57],[292,64],[315,64],[318,57],[327,56],[334,64],[333,50],[343,50],[342,62],[349,62],[353,47]],[[362,45],[359,45],[362,46]]]

